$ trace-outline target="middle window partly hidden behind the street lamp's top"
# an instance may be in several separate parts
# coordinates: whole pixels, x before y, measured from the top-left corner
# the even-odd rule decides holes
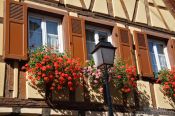
[[[105,39],[104,41],[112,43],[110,29],[86,25],[86,47],[88,60],[92,58],[91,52],[94,50],[95,45],[100,39]]]

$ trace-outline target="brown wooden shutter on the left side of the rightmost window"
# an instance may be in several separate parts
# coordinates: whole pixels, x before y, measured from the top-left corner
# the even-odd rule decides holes
[[[153,77],[152,65],[149,55],[148,41],[145,33],[134,31],[136,55],[139,71],[144,77]]]

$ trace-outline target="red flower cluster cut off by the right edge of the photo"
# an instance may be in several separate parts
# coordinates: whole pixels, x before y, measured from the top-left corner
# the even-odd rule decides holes
[[[161,83],[165,95],[175,99],[175,67],[159,71],[158,77],[157,82]]]

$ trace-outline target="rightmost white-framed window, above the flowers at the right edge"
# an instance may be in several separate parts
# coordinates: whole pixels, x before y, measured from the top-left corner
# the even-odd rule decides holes
[[[165,42],[148,39],[148,45],[153,72],[157,73],[163,68],[170,68]]]

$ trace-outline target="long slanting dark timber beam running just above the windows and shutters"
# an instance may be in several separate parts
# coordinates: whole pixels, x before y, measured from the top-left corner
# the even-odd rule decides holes
[[[30,0],[30,1],[34,1],[34,0]],[[47,3],[41,2],[40,0],[35,0],[35,2],[43,3],[43,4],[48,5]],[[28,4],[28,5],[30,5],[30,4]],[[36,8],[38,7],[37,5],[35,5],[35,6],[36,6]],[[82,9],[80,10],[78,8],[69,8],[68,6],[65,7],[64,5],[58,5],[58,4],[57,5],[55,4],[53,7],[57,7],[57,8],[62,9],[62,10],[77,12],[79,15],[92,17],[92,18],[95,18],[95,19],[106,20],[106,21],[109,21],[109,22],[124,23],[125,25],[128,25],[128,26],[142,27],[144,29],[149,29],[149,30],[152,30],[152,31],[157,31],[157,32],[165,33],[165,34],[170,34],[170,35],[173,35],[173,36],[175,34],[175,31],[169,31],[167,29],[163,29],[163,28],[159,28],[159,27],[152,27],[152,26],[147,25],[147,24],[132,22],[132,21],[128,21],[126,19],[120,18],[120,17],[113,17],[113,16],[110,16],[110,15],[107,15],[107,14],[91,12],[90,10],[82,10]],[[47,9],[45,9],[45,10],[47,10]],[[68,12],[67,12],[67,14],[68,14]]]

